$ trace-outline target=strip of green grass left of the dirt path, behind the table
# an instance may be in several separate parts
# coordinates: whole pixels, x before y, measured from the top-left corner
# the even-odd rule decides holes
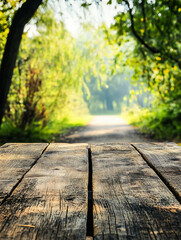
[[[25,130],[13,126],[10,122],[4,122],[0,129],[0,145],[7,142],[54,142],[60,134],[67,133],[72,128],[85,126],[91,120],[91,116],[79,115],[63,119],[61,122],[49,123],[46,127],[28,127]]]

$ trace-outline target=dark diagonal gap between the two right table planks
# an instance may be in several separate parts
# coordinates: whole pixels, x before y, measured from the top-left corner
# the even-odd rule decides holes
[[[153,169],[153,171],[157,174],[157,176],[162,180],[162,182],[166,185],[166,187],[172,192],[174,197],[177,199],[179,203],[181,203],[181,198],[179,194],[175,191],[175,189],[170,185],[170,183],[167,181],[167,179],[157,170],[157,168],[149,161],[149,159],[145,156],[144,153],[142,153],[134,144],[131,144],[131,146],[134,147],[134,149],[141,155],[141,157],[144,159],[144,161],[148,164],[150,168]]]

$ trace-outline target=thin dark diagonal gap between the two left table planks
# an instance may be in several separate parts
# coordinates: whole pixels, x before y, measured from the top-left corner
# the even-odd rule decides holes
[[[22,175],[22,177],[17,181],[17,183],[12,187],[11,191],[4,197],[4,199],[2,200],[2,202],[0,203],[0,206],[2,206],[6,200],[13,194],[13,192],[15,191],[15,189],[19,186],[19,184],[22,182],[22,180],[24,179],[25,175],[33,168],[33,166],[38,162],[38,160],[42,157],[43,153],[46,151],[46,149],[48,148],[48,146],[50,145],[47,144],[47,146],[42,150],[42,152],[40,153],[40,156],[38,158],[35,159],[35,161],[31,164],[30,168]]]

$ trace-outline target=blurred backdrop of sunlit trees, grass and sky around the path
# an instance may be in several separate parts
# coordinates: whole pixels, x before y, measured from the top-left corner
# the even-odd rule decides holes
[[[0,1],[0,143],[57,141],[106,114],[179,141],[180,53],[179,0]]]

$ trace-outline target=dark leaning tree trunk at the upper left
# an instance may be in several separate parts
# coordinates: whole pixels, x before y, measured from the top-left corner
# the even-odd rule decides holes
[[[42,0],[27,0],[13,17],[0,69],[0,125],[5,111],[5,104],[24,26],[33,17],[41,3]]]

